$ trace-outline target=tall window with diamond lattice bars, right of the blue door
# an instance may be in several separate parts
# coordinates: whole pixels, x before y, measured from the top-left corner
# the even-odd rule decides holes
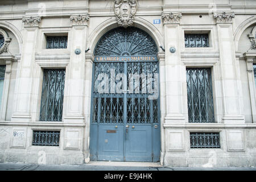
[[[187,68],[188,122],[214,122],[210,68]]]

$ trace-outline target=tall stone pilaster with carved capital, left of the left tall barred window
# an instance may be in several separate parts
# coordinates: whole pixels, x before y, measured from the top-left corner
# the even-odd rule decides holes
[[[22,19],[24,23],[23,46],[18,65],[14,112],[11,121],[31,121],[32,76],[40,20],[39,16]]]

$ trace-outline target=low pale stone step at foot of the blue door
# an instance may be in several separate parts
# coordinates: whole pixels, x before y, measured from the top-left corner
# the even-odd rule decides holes
[[[160,165],[160,163],[150,163],[150,162],[114,162],[114,161],[90,161],[86,165],[92,165],[92,166],[162,167]]]

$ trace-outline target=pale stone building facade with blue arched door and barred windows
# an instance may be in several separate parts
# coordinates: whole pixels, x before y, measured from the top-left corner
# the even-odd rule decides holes
[[[0,38],[0,162],[256,166],[256,1],[1,1]]]

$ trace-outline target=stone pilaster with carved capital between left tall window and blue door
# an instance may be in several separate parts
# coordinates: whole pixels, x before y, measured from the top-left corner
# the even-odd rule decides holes
[[[72,15],[71,58],[65,75],[64,122],[84,122],[85,48],[89,15]]]

